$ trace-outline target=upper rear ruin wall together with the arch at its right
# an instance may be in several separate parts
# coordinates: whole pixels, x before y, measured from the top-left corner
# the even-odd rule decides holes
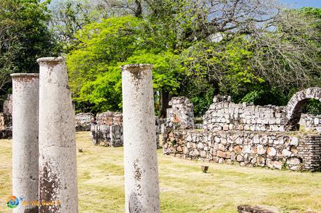
[[[203,116],[203,128],[209,131],[246,130],[286,132],[299,129],[301,109],[310,99],[321,100],[321,88],[308,88],[293,95],[286,107],[273,105],[234,104],[229,97],[216,95]],[[321,117],[303,115],[300,121],[306,130],[321,132]]]

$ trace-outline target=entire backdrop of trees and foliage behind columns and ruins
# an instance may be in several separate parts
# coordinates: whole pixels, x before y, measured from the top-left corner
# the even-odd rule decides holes
[[[78,111],[121,110],[121,71],[154,65],[156,112],[185,95],[195,113],[216,94],[284,105],[321,85],[320,8],[283,10],[266,0],[67,0],[0,2],[0,88],[36,58],[67,54]],[[50,28],[50,30],[48,30]],[[53,39],[54,38],[54,39]],[[308,111],[318,111],[311,102]]]

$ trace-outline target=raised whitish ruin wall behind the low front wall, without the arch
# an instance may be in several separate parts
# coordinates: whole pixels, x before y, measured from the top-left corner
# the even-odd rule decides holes
[[[203,128],[212,132],[221,130],[249,130],[285,132],[286,122],[281,118],[285,107],[273,105],[234,104],[230,97],[214,97],[214,103],[203,116]]]

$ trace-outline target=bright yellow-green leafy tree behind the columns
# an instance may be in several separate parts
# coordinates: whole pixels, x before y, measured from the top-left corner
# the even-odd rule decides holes
[[[76,38],[80,43],[68,55],[67,65],[79,109],[120,109],[119,66],[127,63],[152,63],[158,93],[177,94],[184,68],[165,45],[170,39],[151,29],[148,22],[133,16],[104,19],[84,26]],[[98,86],[102,82],[105,85]]]

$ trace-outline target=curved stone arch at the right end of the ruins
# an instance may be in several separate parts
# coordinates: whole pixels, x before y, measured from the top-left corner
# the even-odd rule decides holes
[[[297,129],[301,118],[301,110],[309,99],[319,100],[321,102],[321,88],[312,87],[295,93],[285,108],[285,122],[287,130]]]

